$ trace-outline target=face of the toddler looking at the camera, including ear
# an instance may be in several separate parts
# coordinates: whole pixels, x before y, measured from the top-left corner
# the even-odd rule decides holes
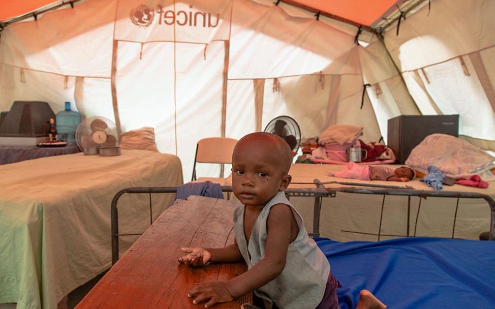
[[[232,189],[246,206],[264,206],[277,192],[289,186],[290,176],[274,153],[242,147],[232,157]]]

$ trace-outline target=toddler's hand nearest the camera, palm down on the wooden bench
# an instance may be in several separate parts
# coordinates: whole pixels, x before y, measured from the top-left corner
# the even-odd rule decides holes
[[[206,308],[211,307],[217,302],[227,302],[234,299],[223,281],[198,284],[191,291],[189,291],[188,296],[195,297],[193,300],[194,304],[198,304],[203,300],[209,299],[209,301],[204,305]]]

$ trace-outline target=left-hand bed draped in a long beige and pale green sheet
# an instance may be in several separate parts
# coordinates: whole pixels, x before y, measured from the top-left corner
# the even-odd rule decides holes
[[[178,157],[147,150],[121,156],[83,153],[0,166],[0,303],[56,308],[69,292],[111,265],[110,209],[115,192],[136,186],[179,186]],[[174,195],[120,200],[122,232],[144,231]],[[137,236],[122,240],[125,251]]]

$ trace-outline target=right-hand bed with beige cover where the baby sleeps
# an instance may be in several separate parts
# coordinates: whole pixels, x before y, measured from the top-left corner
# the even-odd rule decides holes
[[[329,171],[342,168],[333,164],[293,164],[290,170],[289,188],[316,188],[314,179],[318,179],[326,188],[338,189],[333,198],[321,199],[320,236],[338,241],[407,236],[478,239],[480,233],[492,229],[495,220],[488,201],[495,199],[495,181],[489,182],[487,189],[454,184],[435,191],[417,178],[395,182],[328,176]],[[349,182],[352,184],[343,184]],[[370,184],[377,187],[367,187]],[[313,231],[314,201],[295,197],[291,202],[303,216],[308,231]]]

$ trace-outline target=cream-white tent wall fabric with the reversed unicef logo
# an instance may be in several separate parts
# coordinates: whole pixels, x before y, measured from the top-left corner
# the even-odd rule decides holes
[[[3,29],[0,110],[71,101],[122,132],[153,127],[184,179],[200,138],[240,138],[281,114],[303,137],[346,123],[371,142],[391,117],[458,113],[460,134],[493,150],[493,13],[489,0],[434,0],[398,36],[363,32],[360,46],[355,26],[269,0],[85,0]]]

